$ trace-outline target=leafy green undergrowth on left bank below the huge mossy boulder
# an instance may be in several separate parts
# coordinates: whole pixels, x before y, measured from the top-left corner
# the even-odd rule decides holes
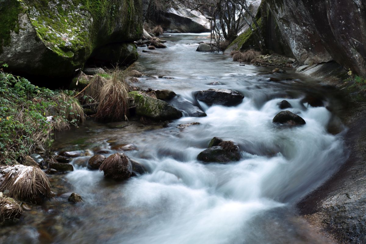
[[[67,120],[75,100],[59,99],[65,96],[0,70],[0,162],[32,153],[37,144],[51,146],[58,123],[76,125],[77,119]]]

